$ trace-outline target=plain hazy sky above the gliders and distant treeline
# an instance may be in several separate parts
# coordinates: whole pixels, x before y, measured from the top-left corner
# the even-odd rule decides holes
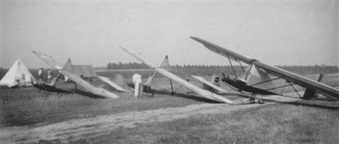
[[[228,65],[189,36],[270,65],[339,65],[338,1],[1,1],[1,65],[21,58],[47,67],[30,51],[64,64],[137,62]]]

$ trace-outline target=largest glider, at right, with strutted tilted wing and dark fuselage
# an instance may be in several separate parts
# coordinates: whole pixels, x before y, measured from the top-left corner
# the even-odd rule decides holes
[[[328,98],[339,100],[339,90],[326,84],[322,84],[320,82],[322,76],[321,74],[315,81],[299,74],[267,65],[259,60],[234,53],[233,51],[217,46],[203,39],[199,39],[197,37],[191,37],[191,39],[200,42],[210,51],[228,58],[232,67],[234,79],[230,78],[229,76],[225,77],[224,75],[222,81],[232,88],[237,89],[238,91],[246,91],[254,94],[283,95],[283,88],[290,86],[295,90],[300,98],[310,99],[314,98],[316,93],[320,93]],[[236,74],[231,60],[240,64],[242,67],[242,74]],[[246,70],[244,70],[242,63],[249,65]],[[281,86],[275,86],[273,81],[277,79],[285,79],[285,84],[282,84]],[[303,96],[298,93],[294,85],[299,85],[306,89]],[[277,91],[278,89],[282,90]]]

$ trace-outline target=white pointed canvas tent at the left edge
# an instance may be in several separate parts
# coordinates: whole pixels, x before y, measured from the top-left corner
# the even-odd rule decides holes
[[[18,58],[12,67],[8,70],[5,76],[1,79],[0,85],[23,86],[32,85],[31,82],[36,81],[30,71],[23,62]]]

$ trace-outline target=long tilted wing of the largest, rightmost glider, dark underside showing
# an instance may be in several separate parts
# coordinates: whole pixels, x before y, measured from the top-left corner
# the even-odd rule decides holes
[[[226,48],[222,48],[220,46],[217,46],[215,44],[212,44],[208,41],[205,41],[203,39],[199,39],[197,37],[191,37],[191,39],[194,39],[201,44],[203,44],[206,48],[208,48],[210,51],[213,51],[215,53],[218,53],[220,55],[223,55],[225,57],[232,57],[233,60],[240,60],[244,63],[247,63],[249,65],[253,64],[256,65],[256,67],[261,68],[262,70],[265,70],[269,74],[273,74],[276,77],[280,77],[282,79],[285,79],[287,81],[290,81],[292,83],[298,84],[299,86],[302,86],[306,89],[312,89],[316,91],[317,93],[323,94],[323,96],[327,96],[330,98],[339,99],[339,90],[335,89],[331,86],[328,86],[326,84],[322,84],[318,81],[314,81],[312,79],[309,79],[307,77],[303,77],[299,74],[295,74],[292,72],[288,72],[287,70],[280,69],[278,67],[266,65],[264,63],[261,63],[261,61],[247,58],[243,55],[239,55],[238,53],[234,53],[230,50],[227,50]]]

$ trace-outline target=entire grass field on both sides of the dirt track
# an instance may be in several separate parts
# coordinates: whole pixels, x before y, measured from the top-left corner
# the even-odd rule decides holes
[[[112,77],[114,74],[105,76]],[[315,75],[308,75],[315,79]],[[206,76],[209,79],[210,76]],[[126,81],[131,81],[127,78]],[[191,82],[201,86],[196,81]],[[93,85],[100,86],[94,80]],[[324,77],[323,83],[339,86],[339,76]],[[73,91],[73,84],[57,84]],[[224,84],[222,87],[227,90]],[[171,96],[169,79],[157,77],[152,88],[160,93],[145,94],[141,98],[133,93],[117,93],[121,98],[109,99],[81,93],[39,93],[33,87],[0,89],[0,130],[16,127],[35,128],[59,124],[73,119],[89,119],[124,112],[144,112],[184,107],[186,105],[214,103],[186,95],[187,89],[174,83],[177,94]],[[109,86],[105,86],[109,89]],[[286,90],[292,92],[292,90]],[[238,96],[227,96],[232,100]],[[119,127],[97,136],[80,136],[66,140],[44,140],[34,143],[338,143],[339,103],[328,100],[302,100],[295,103],[276,103],[232,112],[193,114],[188,118],[168,122],[136,124]],[[1,133],[5,131],[1,130]],[[25,143],[25,140],[20,143]]]

